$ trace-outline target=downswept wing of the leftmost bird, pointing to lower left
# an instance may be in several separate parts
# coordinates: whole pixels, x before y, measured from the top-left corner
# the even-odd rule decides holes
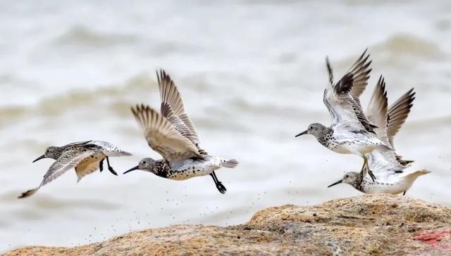
[[[30,189],[29,191],[25,191],[19,198],[26,198],[34,194],[39,188],[48,184],[50,181],[61,176],[61,174],[67,172],[69,169],[77,166],[79,162],[83,159],[89,157],[95,153],[94,151],[64,151],[61,156],[49,167],[49,170],[44,175],[44,179],[42,179],[41,184],[37,188]]]

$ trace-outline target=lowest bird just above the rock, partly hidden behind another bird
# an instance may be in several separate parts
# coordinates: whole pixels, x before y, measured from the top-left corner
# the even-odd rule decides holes
[[[407,119],[414,99],[415,92],[412,88],[390,105],[387,110],[388,98],[385,90],[385,79],[382,76],[379,78],[366,110],[366,115],[371,122],[378,126],[375,129],[378,137],[385,143],[389,143],[392,148],[395,148],[393,139]],[[416,178],[430,173],[427,169],[407,172],[405,169],[411,167],[414,161],[403,160],[395,151],[381,151],[376,148],[367,155],[369,166],[376,176],[376,181],[369,179],[362,171],[347,172],[342,179],[328,187],[345,183],[363,193],[403,193],[405,195]]]

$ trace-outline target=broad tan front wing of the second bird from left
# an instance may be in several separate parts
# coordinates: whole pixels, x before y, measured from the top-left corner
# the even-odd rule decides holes
[[[204,159],[194,143],[180,134],[174,125],[156,110],[147,105],[137,105],[132,108],[132,113],[144,129],[144,137],[149,146],[168,162],[188,158]]]

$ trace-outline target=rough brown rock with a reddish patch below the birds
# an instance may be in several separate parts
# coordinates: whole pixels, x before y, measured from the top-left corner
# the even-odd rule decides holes
[[[451,255],[451,208],[406,196],[283,205],[238,226],[175,225],[6,255]]]

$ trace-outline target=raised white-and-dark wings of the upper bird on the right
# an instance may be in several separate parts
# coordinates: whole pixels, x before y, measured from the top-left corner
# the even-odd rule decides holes
[[[366,84],[366,82],[362,82],[364,77],[367,77],[371,71],[369,70],[371,60],[368,61],[368,57],[366,57],[362,58],[358,63],[362,61],[367,63],[357,65],[360,68],[352,68],[352,72],[347,72],[340,81],[333,84],[332,68],[330,67],[328,58],[326,58],[330,83],[326,87],[326,90],[324,90],[323,102],[332,117],[331,127],[337,132],[342,129],[348,132],[366,131],[374,133],[373,128],[376,126],[371,124],[364,114],[358,96],[352,96],[351,94],[352,88],[354,87],[354,77],[358,77],[359,79],[360,89],[357,92],[353,92],[355,95],[358,95],[358,91],[362,90],[362,87]]]

